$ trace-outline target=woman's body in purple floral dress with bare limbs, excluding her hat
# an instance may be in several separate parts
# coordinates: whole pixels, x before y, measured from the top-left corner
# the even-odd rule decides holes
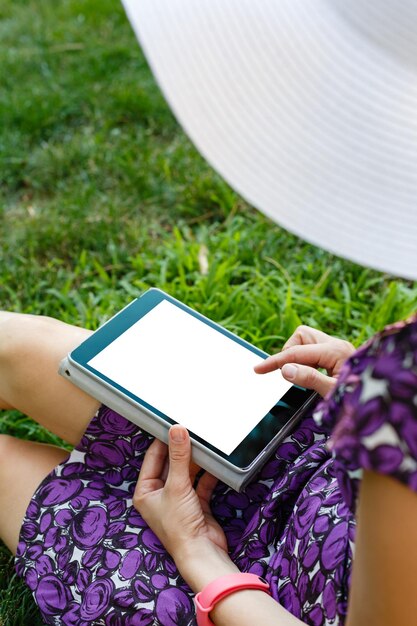
[[[242,494],[207,474],[193,489],[198,468],[181,426],[171,428],[167,465],[165,445],[149,445],[58,376],[61,357],[87,335],[1,316],[2,408],[75,445],[68,456],[0,438],[0,534],[46,624],[194,624],[194,593],[239,570],[263,576],[272,597],[231,593],[210,613],[217,625],[413,623],[416,320],[357,352],[300,327],[260,364],[260,374],[282,367],[327,398]]]

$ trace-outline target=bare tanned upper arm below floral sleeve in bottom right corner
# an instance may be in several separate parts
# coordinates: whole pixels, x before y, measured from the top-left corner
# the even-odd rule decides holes
[[[417,494],[365,472],[346,626],[417,624]]]

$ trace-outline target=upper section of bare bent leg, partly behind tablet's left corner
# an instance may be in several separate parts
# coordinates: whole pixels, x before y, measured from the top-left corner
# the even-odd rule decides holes
[[[90,331],[58,320],[0,312],[0,408],[14,408],[76,445],[99,403],[58,374]]]

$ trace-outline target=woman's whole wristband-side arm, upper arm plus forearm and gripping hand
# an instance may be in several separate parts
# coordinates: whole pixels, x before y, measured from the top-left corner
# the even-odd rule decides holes
[[[179,432],[183,441],[174,441]],[[160,476],[166,446],[155,441],[146,455],[134,505],[174,558],[195,593],[212,580],[237,572],[223,531],[210,514],[214,479],[200,489],[189,477],[190,442],[181,426],[170,431],[170,468]],[[398,481],[365,472],[347,626],[410,626],[417,616],[417,494]],[[223,599],[211,613],[216,626],[300,626],[262,591],[245,590]]]

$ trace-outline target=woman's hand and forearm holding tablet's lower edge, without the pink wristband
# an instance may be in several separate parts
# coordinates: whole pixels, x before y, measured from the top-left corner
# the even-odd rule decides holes
[[[155,440],[146,453],[133,504],[168,552],[190,587],[238,572],[227,554],[224,533],[209,508],[216,480],[204,474],[197,490],[190,479],[191,445],[182,426],[170,429],[169,471],[165,444]],[[244,590],[223,599],[211,612],[216,626],[300,626],[303,622],[262,591]]]

